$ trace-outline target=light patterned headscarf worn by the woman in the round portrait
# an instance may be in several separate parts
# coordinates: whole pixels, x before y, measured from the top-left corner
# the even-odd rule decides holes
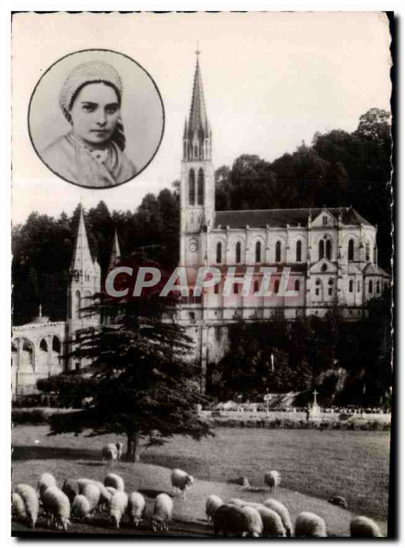
[[[71,121],[71,114],[69,111],[71,110],[72,101],[75,98],[77,91],[86,84],[97,82],[103,82],[112,86],[119,95],[119,100],[121,102],[123,83],[119,73],[116,72],[114,67],[105,61],[99,60],[81,63],[75,66],[73,71],[69,73],[59,94],[60,108],[67,121]],[[119,117],[119,121],[116,124],[111,139],[116,142],[121,150],[125,149],[125,136],[121,116]]]

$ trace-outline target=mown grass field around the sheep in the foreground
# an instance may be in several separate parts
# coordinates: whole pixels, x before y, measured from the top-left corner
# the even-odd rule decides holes
[[[50,471],[58,481],[64,477],[103,479],[108,466],[100,462],[100,449],[106,441],[114,441],[114,436],[49,437],[47,432],[46,426],[14,429],[13,484],[36,485],[43,471]],[[204,501],[210,493],[223,498],[267,498],[269,493],[260,488],[269,469],[282,473],[278,498],[293,516],[302,510],[315,511],[326,519],[330,534],[343,536],[351,514],[326,502],[331,495],[342,495],[351,512],[377,519],[386,530],[389,432],[221,428],[216,434],[199,443],[175,438],[163,447],[144,451],[142,464],[121,462],[114,471],[123,476],[128,491],[143,490],[150,500],[149,512],[154,496],[170,490],[169,469],[180,467],[195,475],[197,482],[187,500],[176,499],[175,503],[175,527],[182,534],[207,534]],[[242,475],[251,483],[248,493],[241,493],[232,483]],[[103,530],[106,523],[99,519],[91,527],[75,524],[75,531],[97,532],[97,527],[101,528],[98,532],[110,531]],[[183,526],[183,521],[188,525]]]

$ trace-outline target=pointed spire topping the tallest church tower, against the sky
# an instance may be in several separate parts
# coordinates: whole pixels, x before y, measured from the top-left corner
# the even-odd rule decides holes
[[[201,69],[199,67],[199,54],[197,47],[195,52],[193,95],[188,121],[184,125],[183,134],[183,160],[210,160],[211,159],[211,129],[208,123],[206,103],[202,85]]]

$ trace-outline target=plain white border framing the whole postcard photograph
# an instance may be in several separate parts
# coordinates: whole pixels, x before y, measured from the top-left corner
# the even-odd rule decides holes
[[[392,0],[392,1],[370,1],[370,0],[341,0],[339,2],[329,1],[327,4],[325,1],[303,1],[303,0],[286,0],[286,1],[246,1],[246,0],[234,0],[234,1],[224,1],[224,0],[193,0],[188,1],[165,1],[165,0],[134,0],[131,2],[118,0],[118,1],[106,1],[106,0],[97,0],[95,1],[78,1],[71,0],[69,2],[62,1],[56,3],[53,1],[10,1],[3,0],[3,3],[0,7],[0,55],[1,58],[1,79],[0,79],[0,93],[1,101],[0,105],[2,106],[2,116],[1,116],[1,133],[0,133],[0,151],[1,151],[1,213],[0,213],[0,237],[1,237],[1,256],[2,256],[2,267],[0,271],[0,288],[2,291],[1,303],[2,303],[2,312],[0,316],[0,348],[1,348],[1,360],[0,364],[3,366],[3,375],[0,382],[0,401],[3,403],[1,408],[1,440],[3,441],[2,451],[0,453],[1,466],[0,470],[3,473],[3,481],[1,482],[2,490],[0,497],[0,535],[2,541],[2,548],[14,545],[15,539],[10,538],[10,314],[8,313],[10,303],[10,12],[11,11],[110,11],[110,10],[145,10],[145,11],[381,11],[381,10],[393,10],[396,16],[399,18],[398,27],[402,26],[401,16],[404,14],[404,3],[401,0]],[[400,28],[397,28],[398,34],[400,34]],[[401,38],[397,36],[397,103],[400,103],[400,90],[403,90],[404,83],[404,66],[403,59],[401,55]],[[401,114],[401,116],[399,116]],[[401,112],[400,105],[397,107],[397,125],[402,127],[404,116]],[[400,158],[402,153],[404,153],[404,144],[398,136],[398,150],[397,156]],[[401,147],[399,147],[401,145]],[[399,159],[397,161],[399,164]],[[401,174],[400,170],[399,173]],[[402,177],[403,179],[404,177]],[[397,188],[400,188],[404,184],[403,180],[397,180]],[[404,242],[405,242],[405,229],[404,223],[399,223],[401,219],[401,214],[404,210],[404,192],[401,195],[397,195],[397,257],[398,262],[397,268],[397,279],[395,282],[400,283],[402,279],[400,275],[403,271],[403,253],[401,254],[401,260],[398,256],[400,251],[404,251]],[[401,320],[402,311],[403,311],[403,294],[400,292],[400,285],[397,284],[397,306],[400,308],[400,314],[397,315],[397,341],[404,340],[405,338],[405,328]],[[398,349],[396,356],[397,369],[400,369],[402,366],[402,352]],[[7,373],[5,373],[7,371]],[[398,375],[400,377],[400,375]],[[398,378],[398,393],[402,395],[404,393],[404,375],[401,375]],[[400,437],[398,443],[398,454],[397,454],[397,465],[400,468],[401,456],[404,455],[404,421],[401,420],[404,418],[404,399],[402,397],[397,398],[398,404],[398,422],[400,423],[397,429],[397,436]],[[404,538],[404,523],[405,512],[402,508],[402,493],[404,493],[404,473],[397,476],[398,479],[398,504],[400,506],[397,512],[398,518],[398,527],[400,532],[400,538]],[[89,538],[90,540],[90,538]],[[173,538],[176,541],[175,538]],[[220,545],[219,541],[209,540],[210,545]],[[66,541],[65,541],[66,542]],[[84,545],[86,541],[84,540],[72,540],[68,545],[72,545],[73,542],[75,545]],[[134,539],[136,544],[144,544],[145,541]],[[155,542],[147,540],[147,545],[154,545]],[[193,542],[193,541],[190,541]],[[247,541],[249,542],[249,541]],[[271,543],[283,543],[285,540],[274,541],[271,540]],[[297,542],[297,541],[295,541]],[[328,541],[326,541],[328,542]],[[156,541],[158,543],[158,540]],[[337,541],[337,544],[344,546],[356,545],[354,541]],[[111,540],[108,542],[108,545],[115,545],[116,540]],[[250,542],[249,542],[250,544]],[[47,541],[47,545],[53,545]],[[229,545],[229,543],[227,543]],[[234,543],[232,543],[234,545]],[[235,543],[236,545],[236,543]],[[336,546],[336,541],[335,544]]]

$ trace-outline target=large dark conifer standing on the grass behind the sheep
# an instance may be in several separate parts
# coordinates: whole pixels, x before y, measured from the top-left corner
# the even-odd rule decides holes
[[[139,257],[133,261],[145,265]],[[86,409],[54,416],[51,434],[87,429],[90,435],[125,434],[130,461],[140,460],[141,437],[149,438],[149,447],[174,434],[195,439],[213,435],[195,411],[206,397],[199,392],[199,369],[185,360],[191,339],[169,319],[177,301],[174,296],[160,297],[160,288],[131,300],[98,295],[84,309],[86,314],[112,319],[109,325],[77,332],[71,356],[89,360],[90,365],[43,379],[38,388],[93,399]]]

